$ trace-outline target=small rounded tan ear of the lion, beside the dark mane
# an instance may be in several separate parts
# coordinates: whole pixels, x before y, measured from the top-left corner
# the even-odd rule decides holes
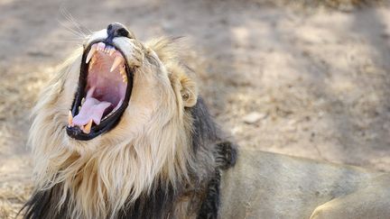
[[[181,98],[185,107],[196,105],[198,99],[198,88],[196,83],[187,76],[181,76]]]

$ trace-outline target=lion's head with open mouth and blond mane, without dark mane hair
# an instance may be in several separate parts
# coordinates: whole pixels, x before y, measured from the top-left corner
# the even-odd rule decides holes
[[[198,91],[171,40],[122,24],[88,36],[42,92],[30,142],[38,189],[60,185],[72,216],[106,217],[188,178]],[[130,200],[130,201],[131,201]]]

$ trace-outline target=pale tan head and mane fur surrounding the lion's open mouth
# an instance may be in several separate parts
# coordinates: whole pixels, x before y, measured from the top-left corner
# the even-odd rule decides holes
[[[88,42],[105,37],[102,32]],[[74,218],[115,217],[131,196],[150,192],[153,182],[187,180],[190,116],[197,88],[167,39],[116,38],[135,68],[129,106],[115,129],[90,141],[71,139],[64,127],[78,85],[82,50],[60,68],[33,110],[30,143],[37,187],[63,183],[62,202],[70,198]]]

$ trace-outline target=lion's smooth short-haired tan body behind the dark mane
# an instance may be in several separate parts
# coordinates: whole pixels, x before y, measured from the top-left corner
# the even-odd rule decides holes
[[[220,218],[390,217],[390,176],[263,151],[240,150],[220,189]]]

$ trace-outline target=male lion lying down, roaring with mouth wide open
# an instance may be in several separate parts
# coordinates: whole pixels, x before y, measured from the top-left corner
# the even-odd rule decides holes
[[[93,32],[42,91],[24,218],[386,218],[390,179],[237,148],[175,39]]]

